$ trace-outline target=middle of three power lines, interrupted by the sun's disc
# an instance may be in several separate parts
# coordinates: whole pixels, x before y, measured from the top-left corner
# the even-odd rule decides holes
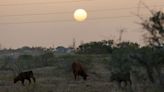
[[[160,7],[160,6],[164,6],[164,5],[158,5],[156,7]],[[115,9],[99,9],[99,10],[88,10],[88,12],[106,12],[106,11],[116,11],[116,10],[118,11],[118,10],[128,10],[128,9],[137,9],[137,8],[138,7],[124,7],[124,8],[115,8]],[[140,8],[144,8],[144,7],[140,7]],[[1,15],[0,17],[72,14],[72,12],[67,11],[67,12],[34,13],[34,14],[11,14],[11,15]]]

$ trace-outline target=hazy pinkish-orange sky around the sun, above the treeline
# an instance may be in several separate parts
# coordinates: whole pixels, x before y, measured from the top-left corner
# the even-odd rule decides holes
[[[163,0],[142,0],[151,9],[162,10]],[[0,44],[22,46],[71,46],[81,41],[118,39],[142,42],[138,12],[139,0],[0,0]],[[142,5],[141,5],[142,6]],[[143,6],[142,6],[143,7]],[[88,19],[73,19],[75,9],[84,8]],[[139,14],[149,15],[145,8]],[[129,17],[128,17],[129,16]]]

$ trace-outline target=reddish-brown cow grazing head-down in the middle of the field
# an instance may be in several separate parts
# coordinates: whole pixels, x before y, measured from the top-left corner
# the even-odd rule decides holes
[[[84,71],[83,66],[79,62],[72,63],[72,70],[76,80],[76,77],[82,76],[84,80],[87,80],[88,75]]]

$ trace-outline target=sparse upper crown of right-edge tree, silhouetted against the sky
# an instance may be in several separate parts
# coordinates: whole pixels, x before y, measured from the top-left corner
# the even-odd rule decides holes
[[[164,13],[161,11],[151,12],[152,16],[146,20],[142,19],[141,25],[149,33],[145,37],[151,46],[163,46],[164,44]]]

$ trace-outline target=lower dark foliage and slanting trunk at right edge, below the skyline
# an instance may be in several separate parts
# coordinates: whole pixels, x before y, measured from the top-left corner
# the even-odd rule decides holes
[[[152,83],[161,83],[161,65],[164,63],[164,49],[154,49],[153,47],[142,47],[137,53],[131,54],[135,59],[135,64],[146,69],[149,80]]]

